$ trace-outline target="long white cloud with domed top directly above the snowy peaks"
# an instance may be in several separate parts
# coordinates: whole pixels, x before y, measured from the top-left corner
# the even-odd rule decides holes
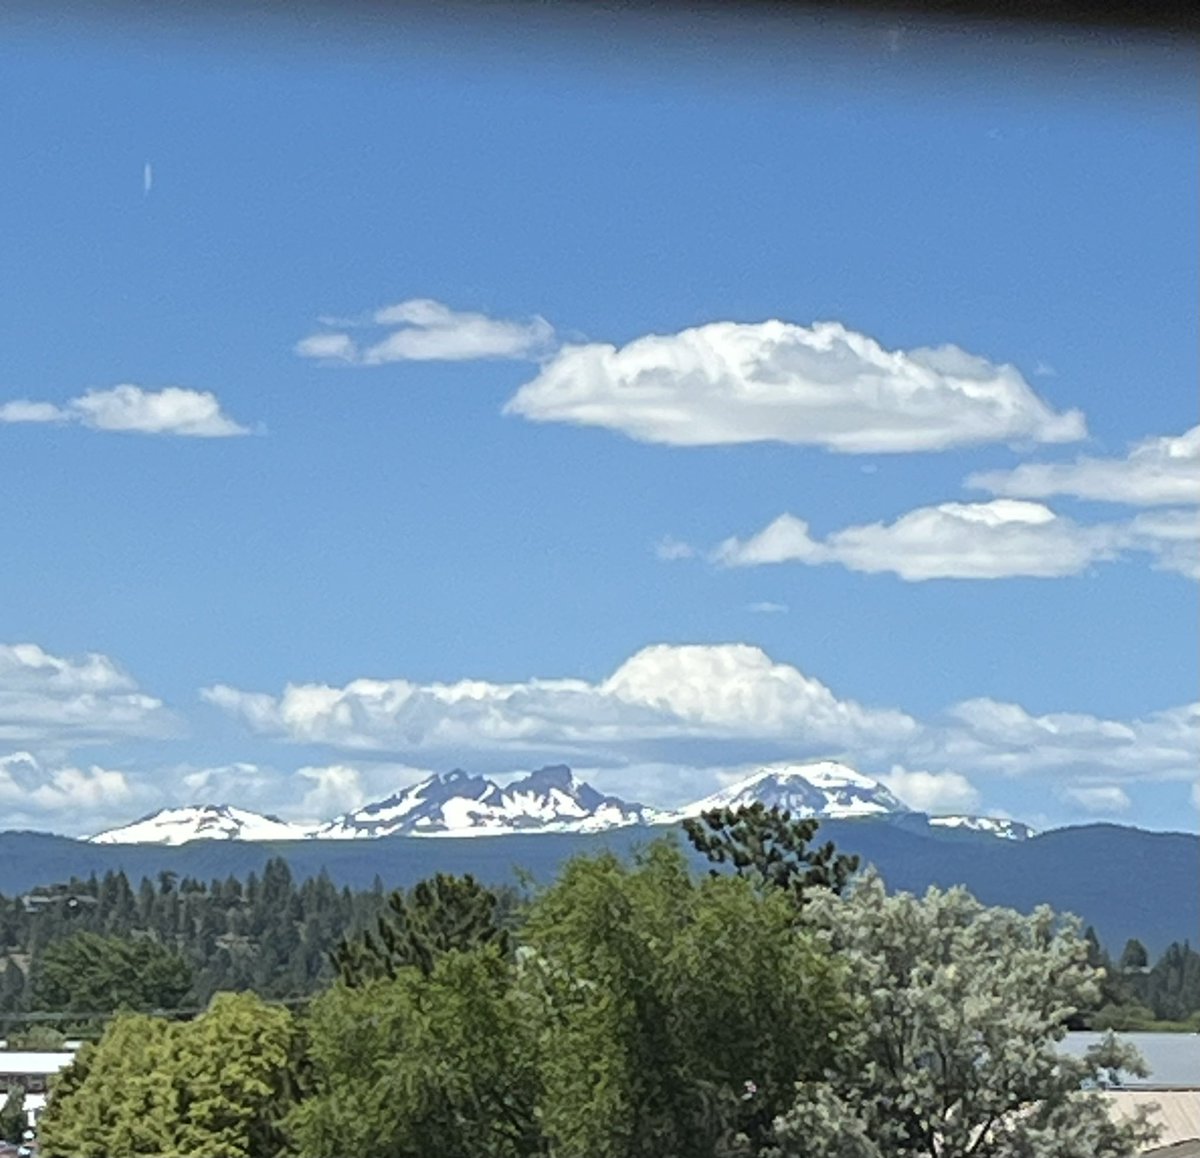
[[[838,698],[818,680],[746,644],[643,648],[608,679],[356,679],[288,685],[282,695],[203,694],[253,731],[359,751],[512,751],[624,758],[660,742],[786,740],[864,746],[916,728],[901,712]]]

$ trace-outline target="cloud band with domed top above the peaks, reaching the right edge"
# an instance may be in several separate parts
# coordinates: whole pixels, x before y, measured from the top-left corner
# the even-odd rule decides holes
[[[514,761],[557,757],[613,776],[623,768],[625,782],[636,768],[656,768],[661,778],[667,768],[710,775],[733,760],[842,758],[868,773],[898,766],[888,782],[901,798],[960,810],[972,806],[978,776],[1190,781],[1200,766],[1196,703],[1114,720],[1037,715],[974,698],[918,720],[835,695],[748,644],[658,644],[594,683],[358,679],[288,685],[278,695],[229,686],[204,695],[263,736],[347,752],[421,754],[426,766],[500,758],[511,769]],[[697,775],[685,779],[698,782]]]

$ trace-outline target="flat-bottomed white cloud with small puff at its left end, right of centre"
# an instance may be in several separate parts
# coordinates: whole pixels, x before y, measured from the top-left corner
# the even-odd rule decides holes
[[[1127,539],[1116,524],[1085,527],[1039,503],[995,499],[923,506],[893,523],[847,527],[823,540],[814,539],[803,520],[781,515],[745,541],[726,540],[715,559],[727,566],[836,563],[852,571],[890,571],[910,582],[1051,578],[1116,558]]]

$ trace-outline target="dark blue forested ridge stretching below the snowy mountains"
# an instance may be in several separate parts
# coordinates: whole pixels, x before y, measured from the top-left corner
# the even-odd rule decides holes
[[[298,881],[328,874],[337,889],[370,889],[378,876],[391,889],[436,872],[469,872],[490,886],[511,884],[516,870],[547,882],[578,853],[630,850],[678,826],[629,826],[602,833],[510,833],[457,836],[380,836],[371,840],[193,840],[179,846],[92,844],[43,833],[0,833],[0,893],[86,880],[121,870],[131,881],[247,881],[263,877],[272,857],[287,859]],[[962,884],[986,905],[1028,912],[1050,905],[1078,914],[1120,952],[1129,938],[1152,955],[1175,941],[1200,944],[1200,836],[1090,824],[1002,840],[968,828],[935,827],[919,814],[857,820],[822,818],[820,840],[858,853],[892,889],[923,893],[930,884]],[[40,904],[34,901],[34,904]],[[86,902],[83,902],[86,904]]]

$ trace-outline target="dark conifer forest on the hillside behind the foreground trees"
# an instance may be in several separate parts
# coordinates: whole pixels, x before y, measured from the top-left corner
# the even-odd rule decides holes
[[[10,1038],[42,1021],[78,1030],[120,1006],[196,1010],[218,990],[306,997],[332,978],[330,954],[340,940],[376,923],[386,892],[380,878],[359,890],[324,874],[298,882],[275,857],[242,880],[205,882],[162,870],[133,884],[109,870],[0,895],[0,1030]],[[516,890],[499,893],[503,920],[516,923]],[[1081,1019],[1080,1027],[1135,1028],[1200,1012],[1200,954],[1190,946],[1151,954],[1130,941],[1112,946],[1115,960],[1094,934],[1090,938],[1093,964],[1104,965],[1109,979],[1104,1009],[1092,1012],[1099,1018]]]

